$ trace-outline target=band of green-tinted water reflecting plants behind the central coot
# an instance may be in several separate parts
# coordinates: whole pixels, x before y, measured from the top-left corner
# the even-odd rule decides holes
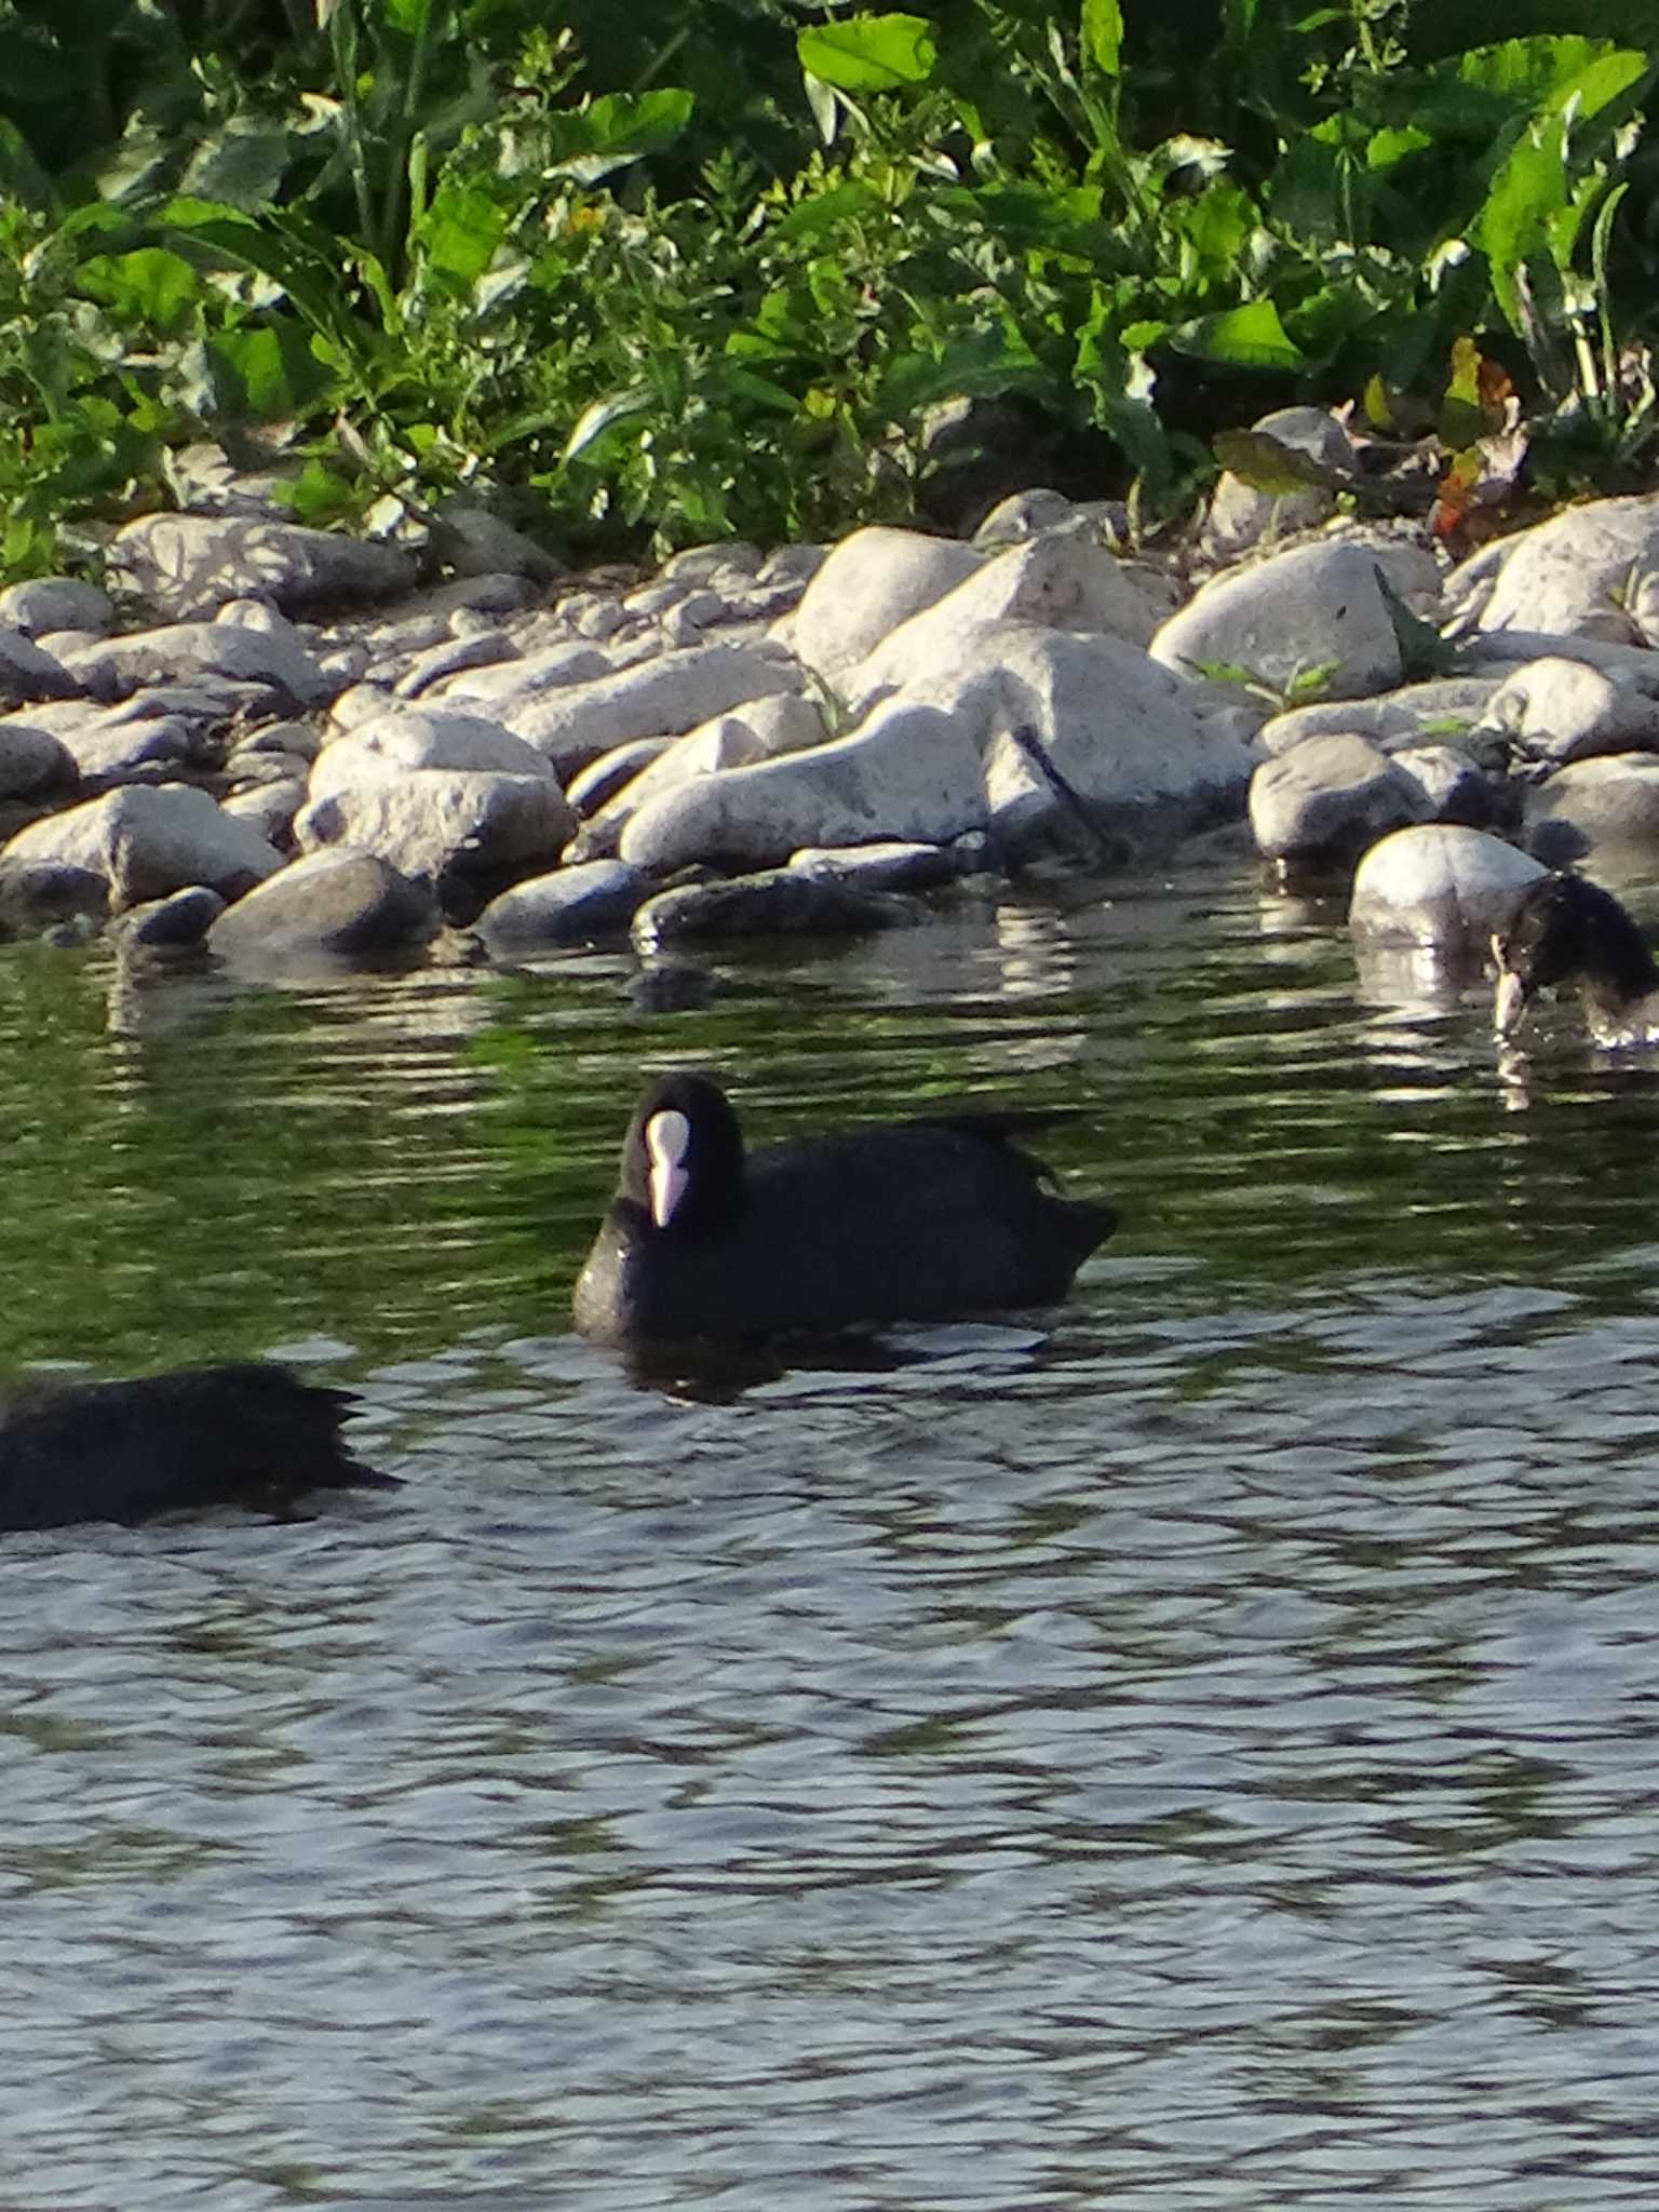
[[[1110,1256],[1183,1263],[1177,1305],[1548,1281],[1655,1237],[1650,1071],[1546,1037],[1504,1082],[1475,1000],[1363,1000],[1340,931],[1248,872],[748,956],[697,1013],[633,1011],[628,973],[239,989],[0,947],[0,1374],[557,1334],[639,1068],[672,1060],[728,1071],[761,1135],[1071,1106],[1046,1150],[1124,1206]]]

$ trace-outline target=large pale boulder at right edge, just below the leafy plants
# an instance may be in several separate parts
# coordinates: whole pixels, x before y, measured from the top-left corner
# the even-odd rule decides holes
[[[1588,500],[1482,546],[1447,577],[1464,628],[1659,646],[1659,495]]]

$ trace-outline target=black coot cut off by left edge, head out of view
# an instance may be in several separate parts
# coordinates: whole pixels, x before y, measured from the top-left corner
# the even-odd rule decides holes
[[[250,1360],[137,1383],[40,1383],[0,1398],[0,1528],[137,1522],[305,1491],[400,1489],[341,1433],[352,1394]]]

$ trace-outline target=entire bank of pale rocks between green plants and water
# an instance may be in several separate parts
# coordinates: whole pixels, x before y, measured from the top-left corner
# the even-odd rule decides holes
[[[1358,469],[1316,409],[1259,429]],[[1416,832],[1354,920],[1451,945],[1546,863],[1659,854],[1659,495],[1460,564],[1345,504],[1223,478],[1197,551],[1155,562],[1110,507],[1029,491],[971,544],[568,577],[476,511],[416,551],[219,469],[111,538],[108,588],[0,591],[0,933],[250,971],[456,929],[502,964],[648,962],[1248,821],[1287,878]]]

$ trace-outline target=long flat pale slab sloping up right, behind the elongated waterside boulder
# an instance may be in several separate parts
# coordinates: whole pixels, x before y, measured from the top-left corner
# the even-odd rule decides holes
[[[613,745],[635,737],[684,737],[697,723],[801,690],[803,670],[776,650],[692,646],[619,668],[593,684],[571,684],[529,703],[504,699],[500,719],[529,739],[564,779]]]

